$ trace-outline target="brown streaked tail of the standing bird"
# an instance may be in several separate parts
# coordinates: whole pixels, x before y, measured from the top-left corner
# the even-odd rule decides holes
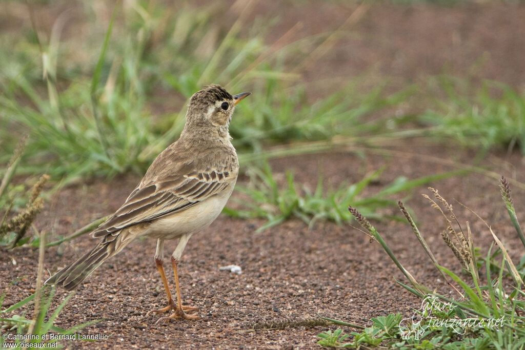
[[[95,271],[106,259],[121,251],[131,240],[128,229],[123,229],[116,235],[107,235],[95,249],[55,273],[45,284],[55,284],[68,291],[76,289],[91,272]]]

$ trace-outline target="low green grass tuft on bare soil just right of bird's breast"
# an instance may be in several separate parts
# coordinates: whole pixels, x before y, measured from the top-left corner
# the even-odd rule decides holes
[[[355,184],[349,186],[343,183],[336,189],[325,188],[323,177],[319,176],[317,186],[312,191],[307,186],[297,184],[291,172],[286,173],[284,186],[279,185],[270,165],[265,163],[262,169],[250,168],[248,172],[250,182],[247,186],[236,186],[236,189],[248,195],[250,200],[237,200],[242,208],[226,207],[224,213],[241,218],[266,218],[268,222],[261,226],[258,232],[278,225],[290,217],[303,220],[310,228],[318,220],[334,221],[340,225],[352,220],[352,215],[348,211],[340,209],[349,205],[360,206],[368,217],[382,219],[383,215],[377,213],[378,209],[396,203],[394,200],[386,199],[387,196],[458,174],[449,172],[413,180],[399,177],[375,195],[363,196],[363,190],[379,178],[383,171],[384,168],[381,168]]]

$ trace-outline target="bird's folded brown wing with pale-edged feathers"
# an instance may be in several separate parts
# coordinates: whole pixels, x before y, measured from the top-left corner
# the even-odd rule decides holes
[[[103,222],[93,237],[103,237],[124,227],[150,221],[187,209],[232,185],[232,174],[209,170],[174,175],[148,184],[141,183],[113,216]]]

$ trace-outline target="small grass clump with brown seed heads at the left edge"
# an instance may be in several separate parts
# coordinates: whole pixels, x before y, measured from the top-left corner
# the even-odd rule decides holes
[[[40,193],[49,179],[48,175],[40,176],[33,188],[25,195],[20,195],[17,189],[9,191],[11,189],[9,184],[12,176],[15,173],[20,157],[24,153],[25,142],[26,138],[19,142],[15,153],[5,168],[4,177],[0,185],[0,216],[2,217],[0,220],[0,245],[9,246],[10,248],[17,246],[20,242],[25,243],[27,241],[22,241],[22,239],[38,213],[44,208],[44,199],[40,197]],[[3,196],[4,193],[5,196]],[[12,211],[15,203],[19,204],[24,201],[24,199],[16,198],[16,196],[23,196],[27,199],[25,200],[25,207],[16,208],[17,214],[13,215]]]

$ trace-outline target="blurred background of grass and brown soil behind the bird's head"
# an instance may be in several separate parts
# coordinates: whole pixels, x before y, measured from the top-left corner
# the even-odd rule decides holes
[[[415,136],[524,151],[520,3],[0,6],[0,162],[29,134],[19,173],[142,173],[208,83],[254,93],[231,126],[243,161]]]

